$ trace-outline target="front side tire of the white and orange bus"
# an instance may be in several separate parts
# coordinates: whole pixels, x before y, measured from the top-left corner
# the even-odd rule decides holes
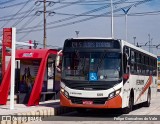
[[[134,102],[134,97],[132,94],[130,94],[128,107],[122,109],[123,114],[128,114],[133,110],[133,102]]]

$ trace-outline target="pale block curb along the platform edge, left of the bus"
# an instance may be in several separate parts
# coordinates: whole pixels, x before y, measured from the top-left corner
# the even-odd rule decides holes
[[[72,111],[72,108],[57,106],[55,108],[50,107],[46,109],[15,113],[7,115],[8,118],[6,118],[5,120],[2,120],[1,117],[0,124],[24,124],[31,121],[42,121],[42,119],[46,117],[65,114]]]

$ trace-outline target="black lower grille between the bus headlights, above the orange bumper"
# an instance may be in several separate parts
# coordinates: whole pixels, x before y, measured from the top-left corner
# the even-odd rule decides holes
[[[108,97],[105,98],[79,98],[79,97],[70,97],[71,102],[74,104],[83,104],[83,101],[93,101],[93,104],[105,104]]]

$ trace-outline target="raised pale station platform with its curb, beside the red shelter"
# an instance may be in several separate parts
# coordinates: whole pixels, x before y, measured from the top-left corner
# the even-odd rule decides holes
[[[10,109],[9,104],[0,105],[0,124],[24,124],[32,121],[32,119],[43,119],[45,117],[60,115],[71,111],[73,110],[61,107],[59,100],[40,102],[37,106],[15,104],[14,109]]]

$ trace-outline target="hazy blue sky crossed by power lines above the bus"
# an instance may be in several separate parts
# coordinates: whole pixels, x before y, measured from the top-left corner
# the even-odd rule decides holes
[[[63,47],[65,39],[77,37],[111,37],[111,0],[47,0],[47,47]],[[49,4],[50,3],[50,4]],[[131,8],[130,8],[131,7]],[[113,0],[113,35],[135,42],[160,55],[160,0]],[[3,28],[16,27],[16,39],[38,42],[43,47],[43,1],[0,0],[0,34]],[[147,45],[145,46],[145,44]],[[21,47],[21,46],[19,46]]]

